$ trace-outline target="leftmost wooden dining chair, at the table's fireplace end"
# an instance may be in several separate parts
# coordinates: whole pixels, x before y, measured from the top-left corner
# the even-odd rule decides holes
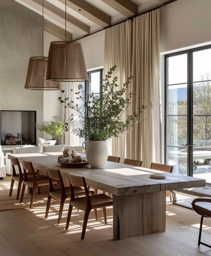
[[[24,181],[24,177],[23,177],[22,170],[21,170],[20,163],[19,163],[18,159],[11,155],[10,160],[11,160],[11,166],[12,166],[12,180],[11,180],[9,195],[12,196],[13,185],[14,185],[14,182],[17,181],[18,189],[17,189],[16,199],[18,200],[19,196],[20,196],[21,185]],[[16,173],[16,167],[18,168],[19,173]]]

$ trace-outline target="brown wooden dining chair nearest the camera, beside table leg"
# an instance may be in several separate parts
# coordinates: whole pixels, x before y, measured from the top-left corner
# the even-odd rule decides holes
[[[112,206],[113,200],[111,197],[105,194],[89,195],[89,190],[87,188],[84,177],[74,176],[69,173],[68,173],[68,177],[69,177],[69,183],[70,183],[70,189],[71,189],[71,198],[69,202],[69,210],[68,210],[65,229],[67,230],[69,228],[69,222],[70,222],[73,206],[79,210],[84,210],[85,214],[84,214],[84,222],[83,222],[83,228],[82,228],[82,234],[81,234],[81,240],[83,240],[85,236],[85,231],[86,231],[86,226],[87,226],[90,211],[93,209],[95,211],[95,214],[97,214],[97,208],[103,208],[104,221],[106,224],[107,221],[106,221],[105,207]],[[76,197],[76,194],[74,193],[75,186],[83,187],[85,189],[85,197]]]

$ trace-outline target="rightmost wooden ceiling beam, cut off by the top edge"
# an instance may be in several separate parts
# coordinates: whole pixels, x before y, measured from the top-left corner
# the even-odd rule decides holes
[[[138,4],[131,0],[101,0],[105,4],[122,13],[125,17],[131,17],[138,14]]]

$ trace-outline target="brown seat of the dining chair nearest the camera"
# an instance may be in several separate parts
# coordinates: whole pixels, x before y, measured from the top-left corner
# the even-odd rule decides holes
[[[91,195],[90,202],[93,209],[113,205],[113,199],[105,194]],[[84,210],[86,206],[86,197],[76,198],[75,201],[71,202],[71,205]]]

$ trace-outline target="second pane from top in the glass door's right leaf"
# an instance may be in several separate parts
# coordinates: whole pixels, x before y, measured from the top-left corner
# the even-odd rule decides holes
[[[211,82],[193,84],[193,113],[195,115],[211,114]]]

